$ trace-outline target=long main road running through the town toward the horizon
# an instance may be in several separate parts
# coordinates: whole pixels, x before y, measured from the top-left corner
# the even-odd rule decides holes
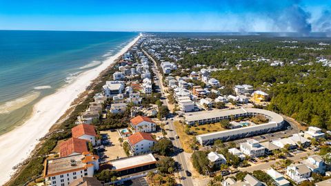
[[[148,56],[148,58],[154,62],[154,65],[155,67],[157,67],[157,63],[156,61],[154,61],[154,59],[152,59],[152,57],[145,51],[143,50],[143,52],[146,54],[146,56]],[[165,98],[165,99],[161,99],[161,101],[163,102],[163,105],[166,105],[167,107],[168,106],[168,101],[165,97],[165,92],[164,92],[164,87],[163,87],[163,84],[161,83],[161,79],[162,79],[162,76],[161,76],[161,73],[159,72],[158,68],[157,68],[157,73],[155,73],[157,75],[157,80],[154,80],[154,83],[155,85],[158,85],[160,90],[161,90],[161,94],[162,94],[162,97]],[[175,138],[174,136],[177,134],[176,133],[176,130],[174,128],[174,122],[172,120],[168,120],[168,127],[171,131],[168,131],[167,133],[167,136],[168,137],[171,137],[171,138],[174,138],[174,141],[172,141],[172,143],[174,144],[174,147],[177,147],[179,149],[182,149],[181,147],[181,143],[179,142],[179,139],[178,138]],[[180,165],[181,165],[181,169],[179,170],[179,176],[181,176],[181,184],[183,186],[187,185],[187,186],[192,186],[193,185],[193,182],[192,182],[192,178],[190,176],[186,176],[185,174],[185,171],[188,170],[188,165],[187,165],[187,162],[190,161],[190,160],[187,160],[183,154],[183,152],[180,152],[178,154],[176,154],[174,156],[174,160],[177,161]]]

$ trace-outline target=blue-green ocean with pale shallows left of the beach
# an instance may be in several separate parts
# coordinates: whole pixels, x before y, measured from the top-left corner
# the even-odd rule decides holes
[[[138,34],[0,30],[0,134],[26,121],[37,101],[97,67]]]

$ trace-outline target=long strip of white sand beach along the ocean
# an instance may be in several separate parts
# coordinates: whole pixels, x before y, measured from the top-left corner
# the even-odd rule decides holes
[[[140,37],[140,35],[139,35]],[[72,83],[62,87],[56,93],[46,96],[34,105],[34,113],[23,125],[0,136],[0,185],[10,179],[14,173],[12,167],[28,158],[38,139],[48,133],[52,125],[68,110],[70,103],[86,90],[86,86],[99,74],[125,53],[139,37],[128,43],[119,53],[111,56],[101,65],[81,73]]]

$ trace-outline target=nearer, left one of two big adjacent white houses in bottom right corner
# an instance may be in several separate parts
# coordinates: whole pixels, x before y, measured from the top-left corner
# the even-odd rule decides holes
[[[286,169],[286,175],[294,180],[295,183],[301,183],[307,180],[311,173],[310,169],[302,163],[291,164]]]

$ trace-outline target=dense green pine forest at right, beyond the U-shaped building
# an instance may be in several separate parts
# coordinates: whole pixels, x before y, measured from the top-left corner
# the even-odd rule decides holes
[[[331,130],[331,69],[316,65],[272,67],[255,64],[241,70],[212,73],[221,84],[246,83],[268,92],[270,110]]]

